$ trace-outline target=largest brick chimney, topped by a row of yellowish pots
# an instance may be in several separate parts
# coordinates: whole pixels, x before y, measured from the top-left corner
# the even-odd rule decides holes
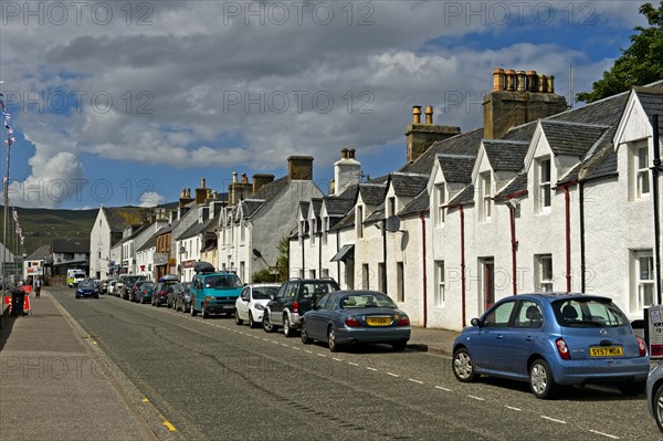
[[[512,127],[567,109],[564,96],[555,93],[552,75],[536,71],[493,71],[493,92],[483,102],[484,138],[496,139]]]

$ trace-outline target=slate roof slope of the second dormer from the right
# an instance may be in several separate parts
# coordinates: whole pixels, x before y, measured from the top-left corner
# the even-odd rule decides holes
[[[540,122],[555,155],[585,156],[609,129],[603,125],[575,124],[562,120]]]

